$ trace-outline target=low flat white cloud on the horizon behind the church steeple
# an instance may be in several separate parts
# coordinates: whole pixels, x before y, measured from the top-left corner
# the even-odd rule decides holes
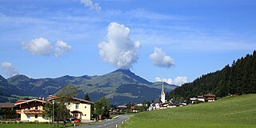
[[[155,82],[166,82],[168,84],[181,86],[182,84],[187,82],[187,78],[180,77],[180,76],[178,76],[177,78],[174,78],[174,80],[171,78],[155,78]]]

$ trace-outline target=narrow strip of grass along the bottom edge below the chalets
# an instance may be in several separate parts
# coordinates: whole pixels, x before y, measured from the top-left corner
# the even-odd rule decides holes
[[[76,123],[76,126],[82,125],[82,122]],[[66,127],[73,126],[73,123],[68,122],[66,123]],[[52,123],[0,123],[1,128],[52,128],[53,124]],[[54,123],[54,127],[57,128],[63,128],[64,124],[63,123]]]

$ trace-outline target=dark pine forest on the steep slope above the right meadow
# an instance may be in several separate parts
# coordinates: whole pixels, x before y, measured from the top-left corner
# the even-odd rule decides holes
[[[202,75],[194,82],[167,93],[167,98],[188,99],[200,94],[216,94],[223,97],[229,94],[256,93],[256,51],[247,54],[245,58],[234,61],[232,66],[227,65],[222,70]]]

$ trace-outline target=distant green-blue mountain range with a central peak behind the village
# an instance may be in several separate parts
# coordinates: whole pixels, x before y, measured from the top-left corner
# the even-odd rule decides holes
[[[68,84],[78,86],[78,98],[84,98],[86,93],[93,101],[106,96],[115,105],[143,100],[151,102],[159,97],[162,85],[161,82],[148,82],[130,70],[121,69],[100,76],[81,77],[66,75],[60,78],[34,79],[19,74],[8,79],[0,77],[0,95],[46,97]],[[170,91],[177,86],[165,84],[165,87],[166,91]]]

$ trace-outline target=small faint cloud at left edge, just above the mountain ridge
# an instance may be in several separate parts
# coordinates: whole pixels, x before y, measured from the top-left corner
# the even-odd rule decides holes
[[[2,62],[1,63],[2,70],[7,75],[7,77],[13,77],[18,74],[18,71],[14,68],[14,66],[10,62]]]

